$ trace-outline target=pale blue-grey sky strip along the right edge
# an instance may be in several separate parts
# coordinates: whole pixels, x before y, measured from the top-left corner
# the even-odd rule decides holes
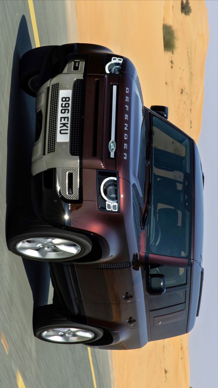
[[[190,386],[218,386],[218,1],[206,0],[209,45],[204,105],[197,147],[204,171],[204,283],[201,308],[190,332]]]

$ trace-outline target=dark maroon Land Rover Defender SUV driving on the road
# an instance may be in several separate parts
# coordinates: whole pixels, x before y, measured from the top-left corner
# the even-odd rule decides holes
[[[106,47],[39,47],[20,62],[36,97],[34,216],[10,251],[49,263],[36,337],[133,349],[188,333],[199,313],[203,182],[193,139],[144,106],[132,62]]]

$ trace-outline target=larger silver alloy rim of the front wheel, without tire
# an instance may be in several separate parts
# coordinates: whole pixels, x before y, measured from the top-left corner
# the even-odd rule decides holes
[[[17,251],[22,255],[45,259],[64,259],[78,255],[81,246],[76,242],[56,237],[33,237],[18,242]]]

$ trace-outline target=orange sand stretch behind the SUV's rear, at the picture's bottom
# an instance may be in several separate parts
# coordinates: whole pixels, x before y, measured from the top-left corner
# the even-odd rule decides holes
[[[116,388],[189,387],[188,335],[115,351],[112,359]]]

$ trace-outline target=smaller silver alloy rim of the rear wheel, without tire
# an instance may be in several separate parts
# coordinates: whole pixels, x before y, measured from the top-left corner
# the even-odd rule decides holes
[[[78,329],[76,327],[57,327],[42,332],[42,337],[47,341],[76,343],[92,340],[95,336],[92,331]]]

